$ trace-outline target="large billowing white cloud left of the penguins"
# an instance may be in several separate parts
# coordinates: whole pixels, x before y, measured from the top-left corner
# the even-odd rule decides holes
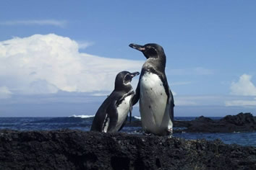
[[[140,71],[144,63],[103,58],[78,49],[76,41],[54,34],[1,41],[1,86],[14,94],[109,91],[119,71]]]

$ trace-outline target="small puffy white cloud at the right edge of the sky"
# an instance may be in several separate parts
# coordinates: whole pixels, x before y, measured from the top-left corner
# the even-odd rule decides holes
[[[256,96],[256,87],[251,81],[252,76],[243,74],[240,76],[239,81],[232,82],[231,94],[241,96]]]

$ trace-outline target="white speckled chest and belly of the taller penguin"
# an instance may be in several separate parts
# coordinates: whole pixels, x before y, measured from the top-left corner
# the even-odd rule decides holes
[[[158,133],[169,125],[167,95],[158,75],[146,72],[140,79],[140,114],[145,130]]]

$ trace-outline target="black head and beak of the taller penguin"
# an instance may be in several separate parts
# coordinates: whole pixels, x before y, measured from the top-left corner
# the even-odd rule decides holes
[[[154,58],[154,59],[162,59],[166,60],[166,55],[164,54],[163,48],[161,45],[149,43],[145,45],[137,45],[137,44],[129,44],[129,47],[135,48],[136,50],[140,50],[144,55],[145,58]]]

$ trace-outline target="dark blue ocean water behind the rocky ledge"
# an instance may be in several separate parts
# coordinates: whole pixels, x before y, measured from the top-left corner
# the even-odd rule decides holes
[[[220,119],[221,117],[210,117]],[[195,117],[175,117],[175,120],[194,120]],[[132,117],[132,121],[140,117]],[[93,116],[73,115],[71,117],[0,117],[0,129],[11,130],[90,130]],[[127,122],[128,123],[128,122]],[[142,128],[125,126],[121,132],[142,134]],[[206,140],[221,139],[223,143],[256,147],[256,132],[253,133],[174,133],[175,137]]]

